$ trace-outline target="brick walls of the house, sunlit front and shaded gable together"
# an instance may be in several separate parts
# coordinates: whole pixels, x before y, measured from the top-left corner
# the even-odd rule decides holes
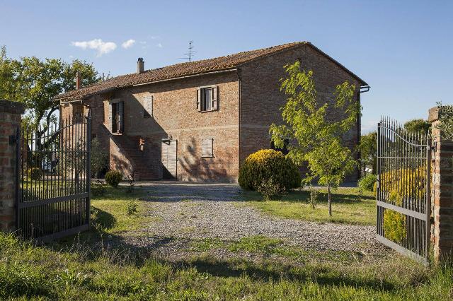
[[[241,66],[241,89],[238,74],[230,71],[139,85],[93,96],[84,101],[92,110],[93,134],[110,153],[110,167],[122,170],[125,175],[141,166],[142,170],[147,170],[148,178],[161,178],[161,139],[171,136],[178,141],[178,179],[234,181],[239,173],[239,160],[245,160],[261,148],[270,147],[268,128],[273,122],[281,122],[280,107],[286,101],[280,92],[280,78],[285,76],[283,66],[297,59],[302,61],[305,69],[314,71],[320,101],[333,98],[336,85],[345,80],[354,83],[358,92],[359,83],[349,73],[311,47],[301,45]],[[205,85],[219,85],[218,111],[197,112],[196,91]],[[154,95],[154,117],[151,118],[143,116],[146,95]],[[108,106],[112,100],[125,103],[125,132],[120,136],[112,136],[109,132]],[[62,116],[71,114],[71,106],[62,111]],[[329,112],[332,119],[339,116],[338,112]],[[205,136],[214,138],[214,158],[201,158],[201,139]],[[352,129],[345,136],[345,144],[354,148],[358,137],[357,128]],[[140,138],[145,141],[144,151],[137,155]],[[134,161],[139,163],[134,164]],[[348,178],[355,179],[357,175]]]

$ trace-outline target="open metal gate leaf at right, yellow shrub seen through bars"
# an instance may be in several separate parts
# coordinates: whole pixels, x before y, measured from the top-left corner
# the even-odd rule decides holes
[[[408,133],[382,118],[377,126],[377,240],[428,263],[430,242],[428,134]]]

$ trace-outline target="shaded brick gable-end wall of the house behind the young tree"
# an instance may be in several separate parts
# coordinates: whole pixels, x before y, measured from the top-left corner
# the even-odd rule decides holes
[[[255,151],[270,147],[269,126],[272,123],[282,123],[280,107],[286,103],[285,94],[280,92],[280,78],[286,75],[283,66],[292,64],[297,59],[301,61],[302,68],[314,71],[320,102],[332,100],[336,85],[345,80],[355,84],[358,97],[360,83],[350,73],[306,45],[244,65],[240,71],[241,161]],[[328,117],[336,120],[341,114],[331,110]],[[355,126],[345,135],[345,145],[355,151],[358,138],[359,131]],[[357,157],[357,153],[355,155]],[[346,180],[356,181],[357,172]]]

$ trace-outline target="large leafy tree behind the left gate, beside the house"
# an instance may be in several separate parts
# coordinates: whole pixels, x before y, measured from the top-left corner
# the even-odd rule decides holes
[[[34,129],[37,151],[48,148],[54,142],[54,139],[49,139],[42,143],[40,138],[50,124],[57,121],[54,113],[59,109],[59,101],[53,98],[59,93],[74,90],[77,71],[81,73],[82,85],[99,80],[93,65],[86,61],[74,60],[68,64],[62,59],[8,59],[6,47],[1,47],[0,99],[25,105],[23,124]],[[40,163],[36,164],[40,166]]]

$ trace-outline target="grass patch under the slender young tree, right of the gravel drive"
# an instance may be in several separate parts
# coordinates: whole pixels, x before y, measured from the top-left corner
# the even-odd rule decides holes
[[[241,206],[253,206],[263,213],[282,218],[310,220],[314,222],[374,225],[376,201],[370,192],[360,194],[356,188],[339,188],[333,192],[332,217],[328,216],[327,191],[319,196],[315,208],[309,203],[310,193],[305,190],[289,191],[280,201],[260,201],[260,194],[244,191]]]

